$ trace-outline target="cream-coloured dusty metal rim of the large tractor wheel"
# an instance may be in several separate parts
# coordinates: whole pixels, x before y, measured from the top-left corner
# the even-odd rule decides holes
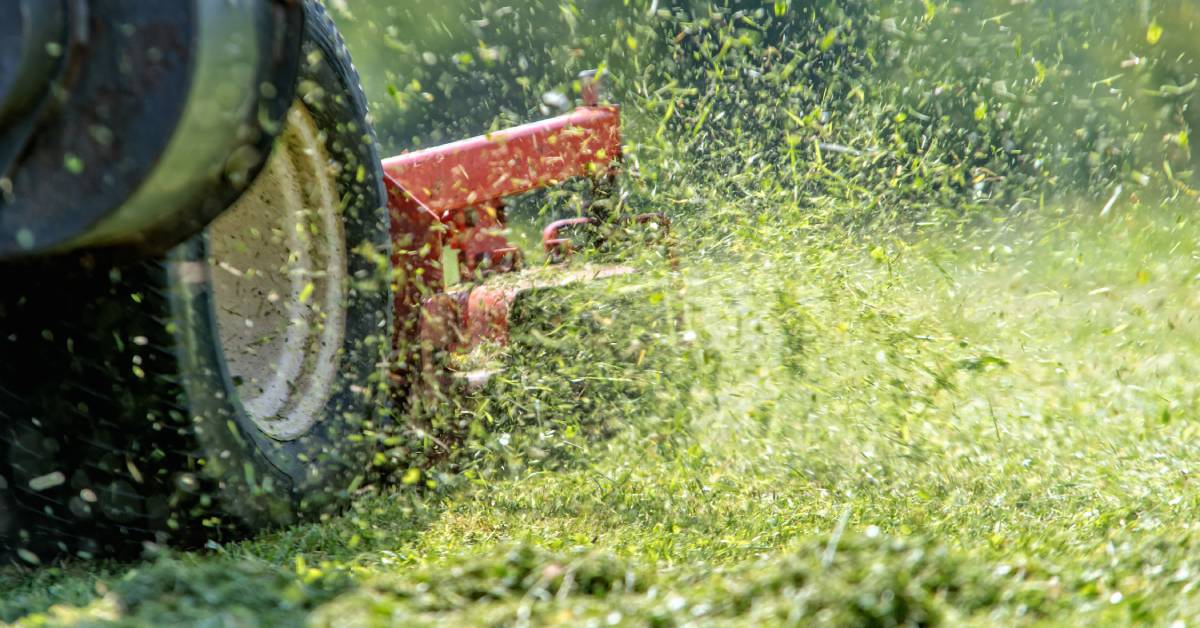
[[[266,167],[209,227],[224,363],[246,415],[277,441],[307,433],[335,391],[347,283],[337,169],[296,101]]]

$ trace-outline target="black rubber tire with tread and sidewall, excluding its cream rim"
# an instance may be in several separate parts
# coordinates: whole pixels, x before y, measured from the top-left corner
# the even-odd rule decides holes
[[[324,418],[277,442],[246,417],[217,343],[204,235],[120,268],[0,267],[6,560],[131,556],[287,525],[343,504],[367,469],[391,309],[377,265],[389,256],[383,173],[346,47],[318,2],[305,10],[300,92],[342,166],[347,250],[378,253],[348,262]]]

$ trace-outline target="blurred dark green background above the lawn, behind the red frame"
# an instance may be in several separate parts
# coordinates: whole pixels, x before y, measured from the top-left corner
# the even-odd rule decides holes
[[[554,113],[545,95],[604,67],[659,190],[752,171],[869,221],[1117,185],[1195,197],[1189,0],[332,5],[388,152]]]

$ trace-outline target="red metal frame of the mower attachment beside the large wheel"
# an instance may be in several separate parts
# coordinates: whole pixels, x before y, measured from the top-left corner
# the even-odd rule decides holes
[[[587,84],[588,90],[586,102],[594,102],[594,85]],[[407,371],[398,376],[438,377],[437,352],[506,342],[512,301],[532,286],[480,283],[448,293],[444,264],[456,263],[472,279],[516,270],[521,255],[503,233],[504,199],[572,178],[611,178],[620,154],[620,109],[589,104],[384,160],[396,295],[394,346],[400,370]]]

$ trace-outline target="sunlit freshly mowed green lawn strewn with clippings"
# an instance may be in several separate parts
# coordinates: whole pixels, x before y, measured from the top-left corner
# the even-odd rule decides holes
[[[1188,621],[1200,226],[1186,207],[1096,214],[902,239],[751,222],[652,294],[683,330],[604,437],[532,421],[469,473],[323,524],[5,572],[0,618]],[[530,462],[539,438],[568,443],[556,463]]]

